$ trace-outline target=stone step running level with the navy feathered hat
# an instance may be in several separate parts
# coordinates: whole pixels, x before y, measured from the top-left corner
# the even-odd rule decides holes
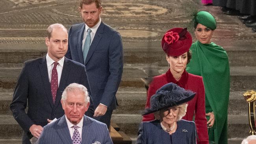
[[[244,92],[230,91],[228,114],[247,114],[248,105],[243,98]],[[145,109],[147,92],[144,88],[121,87],[116,96],[119,106],[113,114],[141,114]],[[13,89],[0,89],[0,114],[12,114],[9,108],[12,97]]]

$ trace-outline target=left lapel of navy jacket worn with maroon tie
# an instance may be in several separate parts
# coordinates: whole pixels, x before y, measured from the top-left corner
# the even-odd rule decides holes
[[[47,70],[47,63],[46,63],[46,55],[42,57],[41,61],[39,61],[39,70],[41,73],[41,78],[43,81],[43,87],[45,89],[45,95],[48,99],[48,102],[50,103],[52,109],[54,107],[53,101],[52,101],[52,92],[49,82],[49,76],[48,76],[48,70]]]

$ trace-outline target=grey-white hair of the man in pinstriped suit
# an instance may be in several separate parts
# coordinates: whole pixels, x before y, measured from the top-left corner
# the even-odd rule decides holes
[[[71,84],[69,84],[65,88],[65,90],[63,91],[62,96],[61,96],[61,100],[62,101],[65,102],[67,100],[67,92],[70,92],[70,91],[83,92],[83,94],[84,94],[84,102],[85,103],[90,102],[90,97],[89,97],[87,88],[85,86],[83,86],[83,85],[78,84],[78,83],[71,83]]]

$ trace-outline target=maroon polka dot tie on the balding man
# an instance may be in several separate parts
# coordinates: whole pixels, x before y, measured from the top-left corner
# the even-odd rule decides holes
[[[55,102],[56,94],[58,90],[58,72],[56,69],[58,64],[59,64],[58,62],[54,62],[54,67],[52,68],[51,90],[52,90],[53,103]]]

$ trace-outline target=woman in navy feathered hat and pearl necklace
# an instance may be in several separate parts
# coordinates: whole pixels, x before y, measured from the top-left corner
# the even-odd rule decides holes
[[[161,87],[143,114],[154,113],[158,119],[140,124],[137,144],[196,144],[195,123],[181,119],[194,96],[174,83]]]

